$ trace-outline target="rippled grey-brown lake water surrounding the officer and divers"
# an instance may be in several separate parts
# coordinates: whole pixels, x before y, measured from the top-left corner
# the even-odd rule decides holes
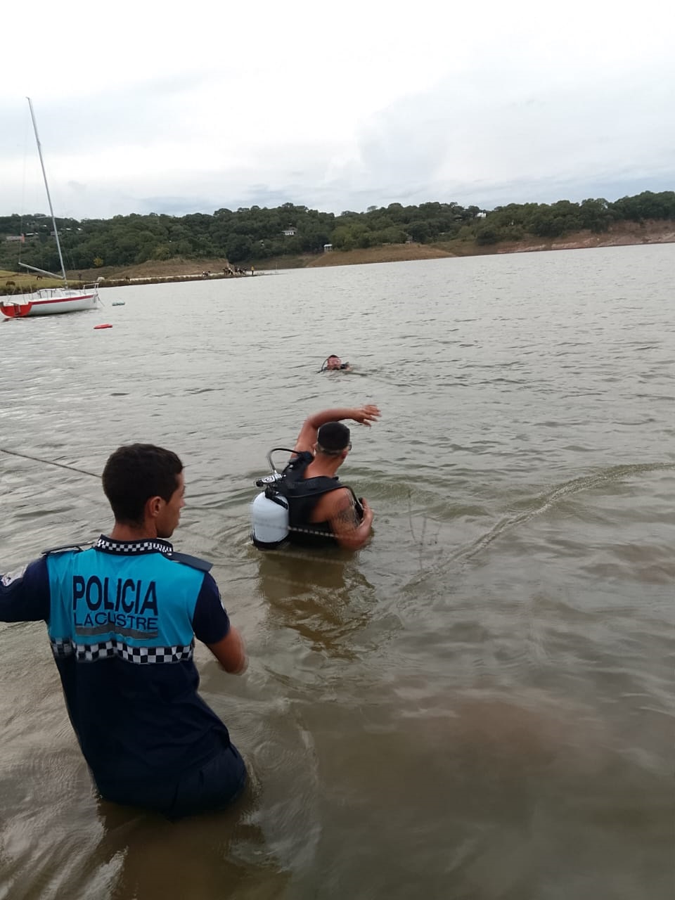
[[[4,450],[182,457],[175,546],[249,654],[198,648],[202,694],[252,775],[179,824],[101,802],[44,625],[0,625],[0,900],[671,900],[673,273],[675,245],[348,266],[0,324]],[[340,474],[372,542],[257,551],[267,450],[365,402]],[[112,527],[94,477],[6,453],[0,504],[0,571]]]

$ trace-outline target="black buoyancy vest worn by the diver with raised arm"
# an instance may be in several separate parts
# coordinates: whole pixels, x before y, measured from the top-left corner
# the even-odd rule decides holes
[[[329,478],[328,475],[318,475],[316,478],[305,478],[304,473],[313,460],[311,453],[307,451],[297,455],[286,466],[278,482],[278,491],[288,500],[288,526],[289,540],[292,544],[325,545],[334,543],[335,536],[329,522],[312,522],[311,513],[323,494],[329,491],[338,491],[347,488],[346,484],[340,484],[338,476]],[[352,491],[354,495],[354,491]],[[356,500],[356,510],[359,518],[363,518],[363,509]]]

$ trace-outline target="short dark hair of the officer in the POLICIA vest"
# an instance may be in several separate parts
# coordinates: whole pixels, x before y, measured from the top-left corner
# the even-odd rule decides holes
[[[103,469],[103,492],[115,520],[140,524],[146,500],[161,497],[168,503],[182,472],[183,463],[171,450],[154,444],[118,447]]]

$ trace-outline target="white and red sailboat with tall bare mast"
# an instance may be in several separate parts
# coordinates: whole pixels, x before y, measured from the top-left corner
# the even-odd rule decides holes
[[[31,110],[32,130],[35,132],[35,142],[38,145],[38,154],[40,156],[40,166],[42,167],[42,177],[44,178],[45,191],[47,192],[47,202],[49,202],[49,212],[51,213],[51,222],[54,229],[54,238],[58,249],[58,262],[61,264],[61,274],[55,275],[53,272],[46,272],[44,269],[38,269],[35,266],[28,266],[26,263],[19,263],[24,269],[30,269],[31,272],[39,272],[40,275],[49,275],[51,278],[61,278],[63,287],[40,288],[40,290],[32,293],[23,293],[19,296],[14,295],[13,300],[6,297],[0,299],[0,312],[10,319],[23,319],[25,316],[50,316],[57,312],[76,312],[80,310],[94,310],[98,304],[98,284],[85,284],[84,288],[68,287],[66,277],[66,266],[63,265],[63,255],[61,254],[61,243],[58,240],[58,229],[56,219],[54,218],[54,210],[51,206],[51,196],[49,195],[49,184],[47,183],[47,172],[45,171],[44,161],[42,160],[42,148],[40,146],[40,137],[38,135],[38,126],[35,122],[35,114],[32,111],[31,98],[27,97],[28,107]]]

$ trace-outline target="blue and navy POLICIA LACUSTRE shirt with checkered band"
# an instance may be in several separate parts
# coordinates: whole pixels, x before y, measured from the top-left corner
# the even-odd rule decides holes
[[[160,539],[101,536],[0,582],[0,621],[44,619],[68,715],[94,780],[175,778],[229,746],[197,693],[194,637],[229,632],[208,563]]]

